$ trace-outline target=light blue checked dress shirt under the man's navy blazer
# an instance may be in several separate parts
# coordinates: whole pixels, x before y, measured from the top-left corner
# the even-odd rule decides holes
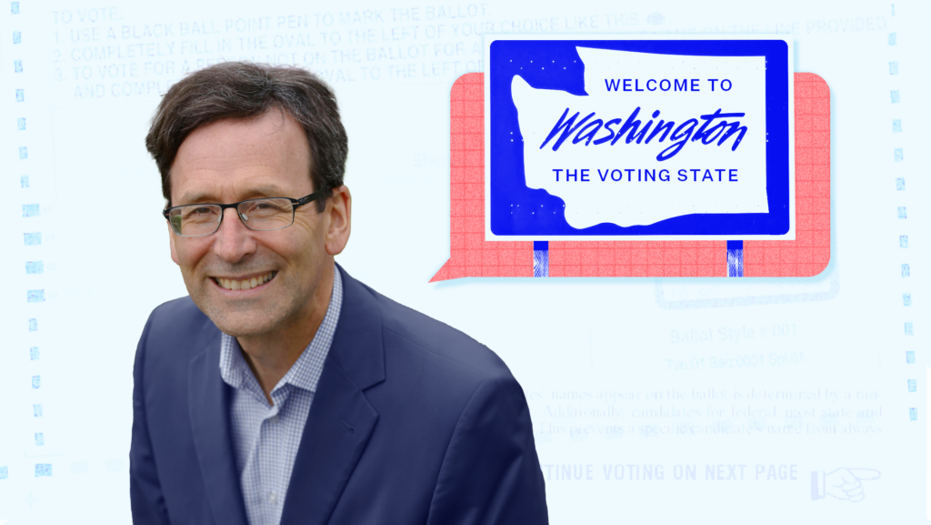
[[[294,458],[342,305],[343,280],[334,266],[330,306],[314,340],[272,390],[274,406],[268,404],[236,338],[221,337],[220,375],[233,387],[230,422],[250,525],[281,521]]]

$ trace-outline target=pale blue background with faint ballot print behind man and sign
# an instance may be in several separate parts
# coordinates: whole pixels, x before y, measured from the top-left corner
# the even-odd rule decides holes
[[[293,62],[297,56],[303,63],[310,53],[310,67],[332,81],[349,133],[346,183],[354,196],[354,228],[339,262],[388,297],[464,330],[504,358],[533,412],[549,473],[552,523],[924,522],[931,255],[931,188],[923,159],[929,138],[927,3],[501,2],[420,5],[416,13],[410,5],[364,2],[332,10],[274,1],[224,3],[222,9],[216,3],[123,0],[20,0],[19,6],[19,14],[12,14],[8,0],[0,5],[0,269],[7,276],[0,287],[0,467],[7,467],[0,479],[0,520],[129,522],[133,354],[148,313],[186,294],[169,259],[168,228],[157,215],[163,205],[158,175],[142,142],[158,90],[180,78],[183,60],[196,67],[198,60]],[[98,19],[88,21],[95,6]],[[101,6],[115,7],[118,20],[101,19]],[[438,20],[440,8],[447,16]],[[450,18],[451,9],[462,18]],[[380,11],[381,18],[370,13],[367,21],[366,10]],[[356,23],[340,11],[362,14]],[[106,12],[109,17],[111,10]],[[250,29],[246,21],[262,17],[269,17],[269,26]],[[289,20],[306,20],[307,27],[288,29]],[[223,31],[207,37],[213,48],[218,38],[229,39],[223,57],[205,50],[203,36],[178,35],[181,22],[193,27],[195,21],[214,21]],[[232,21],[229,33],[226,21]],[[164,58],[72,58],[74,48],[80,57],[83,48],[108,44],[73,44],[73,31],[78,39],[92,38],[95,28],[105,36],[114,26],[115,44],[126,44],[123,26],[132,35],[132,26],[142,31],[155,23],[173,23],[175,35],[141,42],[154,44],[156,52],[172,43],[173,75],[155,73],[154,62]],[[14,31],[20,32],[17,44]],[[428,284],[449,257],[449,90],[459,75],[482,69],[482,31],[790,33],[795,70],[822,76],[831,89],[829,269],[813,279]],[[288,47],[302,39],[312,45]],[[262,42],[267,50],[240,50]],[[152,73],[146,73],[146,62],[153,62]],[[133,67],[138,76],[122,76]],[[372,68],[378,68],[377,80]],[[134,83],[154,88],[145,95],[113,95],[125,86],[132,92]],[[17,102],[17,90],[23,102]],[[90,96],[98,93],[100,98]],[[20,147],[27,148],[27,159],[20,159]],[[24,176],[28,187],[22,187]],[[101,202],[125,203],[123,220],[102,228],[93,220]],[[31,204],[39,205],[40,214],[23,217],[23,206]],[[902,207],[907,218],[899,218]],[[23,234],[34,232],[42,233],[41,244],[27,245]],[[904,235],[908,248],[900,247]],[[42,261],[43,273],[26,274],[27,261]],[[909,277],[903,277],[903,265],[909,265]],[[29,290],[44,290],[45,301],[28,303]],[[911,306],[905,306],[905,294]],[[31,361],[33,347],[40,358]],[[914,363],[907,363],[906,352],[914,352]],[[766,366],[752,366],[751,357],[738,361],[761,354]],[[41,379],[37,389],[34,376]],[[916,380],[915,392],[909,380]],[[734,398],[751,388],[820,389],[841,397]],[[670,399],[671,389],[683,398]],[[693,389],[726,397],[693,399]],[[607,401],[599,400],[604,393],[610,393]],[[853,399],[844,399],[846,393]],[[873,398],[857,400],[857,393]],[[41,417],[34,416],[36,405]],[[760,415],[773,405],[776,417]],[[698,415],[643,413],[660,408]],[[822,415],[839,408],[853,415]],[[756,415],[739,412],[747,409]],[[788,419],[787,410],[815,410],[816,416]],[[853,423],[883,432],[641,434],[641,427],[674,421],[764,429]],[[599,433],[608,427],[626,432],[610,438]],[[546,467],[582,465],[578,472],[587,473],[589,464],[591,480],[557,478],[554,468],[561,473],[562,467]],[[664,465],[665,478],[605,480],[603,465],[617,464]],[[676,480],[677,464],[695,465],[696,479]],[[794,464],[798,474],[795,481],[708,480],[707,466],[718,464],[746,464],[748,474],[756,464]],[[830,496],[813,502],[811,473],[842,467],[876,469],[882,476],[863,481],[859,503]]]

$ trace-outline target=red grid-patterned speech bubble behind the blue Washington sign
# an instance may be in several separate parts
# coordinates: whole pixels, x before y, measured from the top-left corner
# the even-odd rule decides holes
[[[450,103],[450,259],[431,283],[533,277],[533,242],[486,242],[484,76],[460,76]],[[796,240],[744,242],[744,276],[809,277],[830,260],[830,91],[795,74]],[[727,242],[549,242],[549,277],[726,277]]]

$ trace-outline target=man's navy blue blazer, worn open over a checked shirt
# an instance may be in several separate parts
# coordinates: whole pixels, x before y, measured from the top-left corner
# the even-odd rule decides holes
[[[530,413],[507,366],[340,271],[343,308],[281,525],[546,523]],[[190,297],[149,316],[133,379],[133,523],[248,525],[220,331]]]

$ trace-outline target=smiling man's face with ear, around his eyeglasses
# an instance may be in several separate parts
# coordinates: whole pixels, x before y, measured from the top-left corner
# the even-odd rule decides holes
[[[171,167],[171,205],[299,199],[315,190],[309,169],[304,129],[290,116],[272,109],[255,119],[221,120],[184,139]],[[262,335],[306,319],[324,292],[318,284],[345,243],[332,243],[332,208],[331,200],[318,214],[317,202],[305,204],[294,224],[272,231],[246,228],[229,208],[220,229],[205,237],[177,237],[169,227],[171,258],[217,327],[235,337]],[[324,295],[329,299],[330,290]]]

